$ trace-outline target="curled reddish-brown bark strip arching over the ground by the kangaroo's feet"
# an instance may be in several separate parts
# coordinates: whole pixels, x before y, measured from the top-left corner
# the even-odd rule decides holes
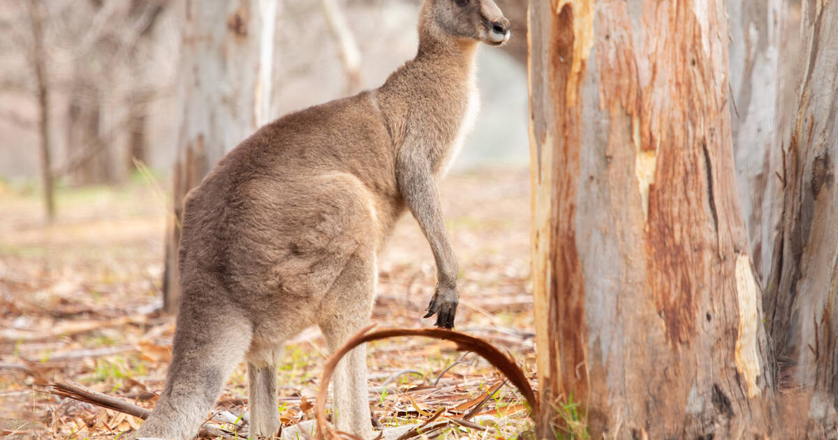
[[[318,405],[317,405],[317,422],[318,422],[318,438],[325,439],[327,435],[329,438],[337,437],[338,432],[334,432],[331,427],[326,424],[326,396],[328,394],[328,382],[334,374],[334,369],[338,365],[339,360],[344,357],[349,351],[365,344],[366,342],[393,338],[396,336],[423,336],[433,339],[449,340],[457,344],[457,348],[463,351],[473,351],[478,355],[488,360],[490,364],[500,370],[516,388],[524,396],[527,404],[530,406],[530,416],[538,412],[538,401],[535,399],[535,393],[530,386],[529,380],[526,379],[524,372],[515,364],[515,361],[509,356],[504,355],[497,347],[484,339],[475,338],[468,334],[463,334],[446,329],[381,329],[375,332],[370,332],[374,326],[371,325],[366,329],[362,329],[358,334],[354,335],[352,339],[344,344],[343,347],[334,352],[328,358],[326,365],[323,366],[323,379],[320,382],[318,390]]]

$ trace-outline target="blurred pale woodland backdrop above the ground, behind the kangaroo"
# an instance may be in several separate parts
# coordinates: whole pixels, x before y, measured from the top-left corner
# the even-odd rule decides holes
[[[136,172],[132,158],[168,173],[178,142],[185,20],[179,3],[50,0],[35,18],[28,2],[0,5],[0,32],[6,36],[0,41],[0,176],[7,182],[39,176],[42,86],[50,96],[49,153],[59,185],[124,183]],[[360,58],[352,75],[344,69],[341,42],[332,34],[323,4],[280,3],[274,117],[377,87],[416,52],[416,0],[339,4]],[[529,160],[526,70],[520,62],[525,61],[525,28],[515,30],[515,39],[524,43],[515,46],[523,50],[518,54],[523,59],[485,49],[479,57],[483,106],[458,161],[461,170],[521,166]],[[43,79],[36,65],[43,65]]]

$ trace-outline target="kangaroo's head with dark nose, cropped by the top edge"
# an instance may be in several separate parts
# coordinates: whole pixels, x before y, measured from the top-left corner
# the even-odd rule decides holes
[[[510,20],[494,0],[426,0],[420,26],[448,38],[472,39],[499,46],[510,39]]]

